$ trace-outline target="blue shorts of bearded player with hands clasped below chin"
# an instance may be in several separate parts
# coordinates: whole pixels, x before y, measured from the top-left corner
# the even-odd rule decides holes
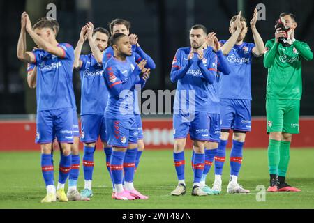
[[[174,139],[184,139],[190,133],[190,139],[208,141],[209,122],[207,112],[194,112],[193,114],[174,114],[173,132]]]

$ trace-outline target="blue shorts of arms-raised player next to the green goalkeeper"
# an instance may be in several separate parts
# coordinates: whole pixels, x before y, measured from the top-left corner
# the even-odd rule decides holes
[[[251,100],[221,99],[222,130],[251,132]]]

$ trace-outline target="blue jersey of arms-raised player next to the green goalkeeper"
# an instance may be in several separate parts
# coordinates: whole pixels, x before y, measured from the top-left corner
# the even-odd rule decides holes
[[[220,45],[225,44],[220,41]],[[220,98],[252,100],[251,95],[251,65],[253,43],[234,45],[225,56],[232,70],[230,76],[222,76],[219,87]]]

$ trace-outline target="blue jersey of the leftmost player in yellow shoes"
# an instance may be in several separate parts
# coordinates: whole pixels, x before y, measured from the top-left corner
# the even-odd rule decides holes
[[[74,49],[67,43],[58,45],[63,49],[59,58],[44,50],[33,52],[37,66],[37,111],[74,108],[73,64]]]

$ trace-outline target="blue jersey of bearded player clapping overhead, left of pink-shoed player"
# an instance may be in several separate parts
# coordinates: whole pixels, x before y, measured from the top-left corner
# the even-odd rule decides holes
[[[103,64],[97,63],[93,54],[80,56],[82,67],[81,115],[103,114],[108,100],[108,91],[103,79]]]

